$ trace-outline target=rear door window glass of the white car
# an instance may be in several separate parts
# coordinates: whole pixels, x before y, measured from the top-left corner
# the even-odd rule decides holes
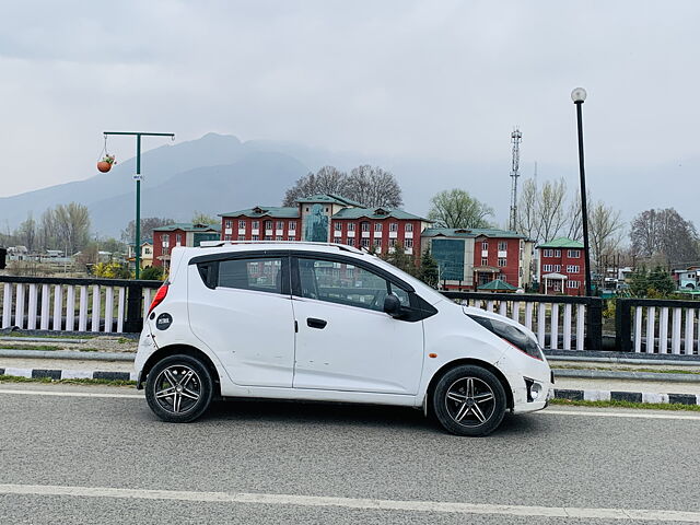
[[[221,260],[217,285],[256,292],[289,293],[287,259],[262,257]]]

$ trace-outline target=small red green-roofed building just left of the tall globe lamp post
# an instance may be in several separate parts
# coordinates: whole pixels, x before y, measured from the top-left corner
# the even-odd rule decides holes
[[[585,295],[583,243],[567,237],[537,246],[539,287],[545,294]]]

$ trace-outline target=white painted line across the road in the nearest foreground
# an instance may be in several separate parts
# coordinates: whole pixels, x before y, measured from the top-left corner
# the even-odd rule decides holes
[[[67,495],[133,500],[177,500],[207,503],[252,503],[265,505],[336,506],[375,511],[444,512],[453,514],[498,514],[512,516],[579,517],[644,522],[700,523],[700,512],[643,509],[586,509],[569,506],[493,505],[450,501],[374,500],[324,495],[249,492],[198,492],[184,490],[140,490],[110,487],[67,487],[46,485],[0,485],[0,494]]]

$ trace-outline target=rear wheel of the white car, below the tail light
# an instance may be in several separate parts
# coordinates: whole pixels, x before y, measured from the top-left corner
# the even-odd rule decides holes
[[[199,418],[213,397],[213,381],[207,366],[191,355],[170,355],[149,372],[145,400],[159,418],[188,423]]]

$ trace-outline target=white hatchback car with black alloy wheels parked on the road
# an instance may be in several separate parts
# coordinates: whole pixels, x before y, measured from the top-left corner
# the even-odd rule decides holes
[[[422,408],[486,435],[547,404],[537,339],[506,317],[349,246],[211,244],[173,249],[139,340],[137,384],[165,421],[214,397],[306,399]]]

